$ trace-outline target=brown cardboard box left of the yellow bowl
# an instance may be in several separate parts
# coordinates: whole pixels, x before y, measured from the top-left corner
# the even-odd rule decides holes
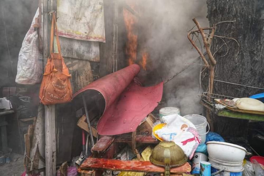
[[[136,133],[141,135],[151,135],[152,126],[155,121],[155,117],[152,114],[149,114],[147,118],[138,126]]]

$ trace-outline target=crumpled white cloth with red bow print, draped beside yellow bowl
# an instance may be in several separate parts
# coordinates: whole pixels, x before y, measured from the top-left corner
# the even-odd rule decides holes
[[[191,159],[201,142],[201,137],[194,124],[178,114],[163,116],[162,120],[167,125],[154,131],[154,133],[164,141],[174,141]]]

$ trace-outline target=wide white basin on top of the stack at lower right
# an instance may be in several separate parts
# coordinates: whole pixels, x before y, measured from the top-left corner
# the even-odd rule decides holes
[[[209,157],[218,161],[241,163],[247,153],[244,147],[227,142],[209,141],[206,144]]]

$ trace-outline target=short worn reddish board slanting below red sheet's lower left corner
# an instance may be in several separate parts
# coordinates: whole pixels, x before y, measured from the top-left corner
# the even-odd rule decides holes
[[[114,141],[113,136],[102,136],[97,143],[92,147],[92,152],[97,151],[98,153],[105,151]]]

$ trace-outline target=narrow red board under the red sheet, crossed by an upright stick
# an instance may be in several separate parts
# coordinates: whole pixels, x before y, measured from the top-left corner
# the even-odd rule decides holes
[[[121,135],[115,138],[115,142],[117,143],[130,143],[131,135]],[[136,135],[136,142],[145,143],[145,144],[158,144],[159,141],[153,139],[150,135]]]

